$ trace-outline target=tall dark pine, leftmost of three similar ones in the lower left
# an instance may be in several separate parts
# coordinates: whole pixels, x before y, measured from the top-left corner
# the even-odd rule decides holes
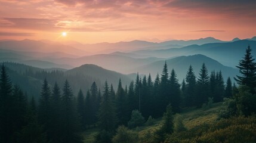
[[[47,132],[47,138],[50,139],[50,128],[51,128],[51,89],[46,79],[41,88],[41,94],[39,98],[38,107],[38,120],[41,125],[44,125],[44,131]]]

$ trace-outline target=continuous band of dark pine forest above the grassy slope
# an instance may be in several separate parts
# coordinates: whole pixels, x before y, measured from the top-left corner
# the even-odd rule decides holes
[[[85,94],[80,89],[77,96],[73,94],[67,80],[61,90],[57,83],[51,86],[44,79],[39,102],[36,104],[33,97],[28,101],[26,92],[11,83],[5,66],[2,65],[0,140],[82,142],[81,131],[97,126],[100,132],[95,136],[95,142],[111,142],[119,125],[134,128],[138,126],[136,123],[161,117],[166,111],[166,122],[162,130],[159,130],[159,135],[162,135],[161,132],[172,133],[171,114],[179,113],[181,108],[202,107],[210,101],[221,102],[225,98],[234,100],[234,114],[242,111],[249,115],[255,111],[255,105],[249,104],[248,107],[247,104],[254,101],[254,98],[252,101],[244,98],[241,100],[234,95],[245,95],[244,92],[248,91],[251,97],[255,97],[256,65],[251,56],[251,48],[246,49],[238,68],[242,76],[235,80],[242,89],[240,86],[236,88],[235,83],[232,85],[230,77],[225,84],[221,71],[211,71],[209,74],[204,63],[198,78],[190,66],[181,84],[174,69],[169,74],[165,62],[161,75],[157,74],[154,81],[150,74],[141,78],[137,73],[136,79],[125,88],[119,79],[116,92],[107,81],[102,91],[93,82]],[[224,113],[227,114],[227,111],[223,111]]]

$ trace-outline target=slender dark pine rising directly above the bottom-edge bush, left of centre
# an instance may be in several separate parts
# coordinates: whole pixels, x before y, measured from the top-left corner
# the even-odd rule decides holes
[[[121,79],[118,83],[118,91],[116,92],[116,116],[118,117],[118,125],[126,125],[128,121],[127,114],[127,99],[125,97],[124,89],[122,88]]]

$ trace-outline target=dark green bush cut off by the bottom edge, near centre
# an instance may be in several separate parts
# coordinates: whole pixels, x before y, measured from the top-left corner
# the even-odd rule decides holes
[[[125,126],[119,126],[112,141],[113,143],[138,142],[138,133],[129,130]]]

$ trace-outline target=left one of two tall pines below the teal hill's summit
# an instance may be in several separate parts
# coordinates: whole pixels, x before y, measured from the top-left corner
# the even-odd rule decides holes
[[[186,75],[186,90],[184,93],[184,103],[185,106],[192,106],[195,105],[195,91],[196,91],[196,76],[193,71],[192,66],[189,66],[189,70],[187,71]]]

